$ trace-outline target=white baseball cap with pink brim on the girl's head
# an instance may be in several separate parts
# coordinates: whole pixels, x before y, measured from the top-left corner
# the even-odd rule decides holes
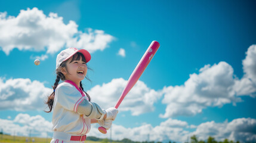
[[[88,61],[91,60],[91,54],[87,50],[85,50],[85,49],[76,49],[76,48],[64,49],[63,51],[60,52],[60,54],[57,55],[57,58],[56,58],[56,69],[58,67],[60,67],[60,64],[63,61],[66,61],[70,57],[75,55],[76,52],[81,52],[84,55],[86,63],[88,63]]]

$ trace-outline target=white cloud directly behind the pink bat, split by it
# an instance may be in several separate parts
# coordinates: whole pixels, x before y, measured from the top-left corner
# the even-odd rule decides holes
[[[109,83],[94,86],[88,91],[88,94],[90,94],[92,102],[103,105],[103,108],[113,107],[121,96],[126,83],[127,81],[122,78],[113,79]],[[120,111],[130,110],[132,115],[137,116],[153,111],[155,109],[153,104],[160,97],[161,93],[148,88],[144,82],[138,80],[118,109]]]

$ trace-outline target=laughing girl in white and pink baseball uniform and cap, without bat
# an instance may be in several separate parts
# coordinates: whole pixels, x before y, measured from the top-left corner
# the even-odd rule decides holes
[[[50,113],[53,110],[53,139],[51,143],[84,142],[91,129],[91,123],[99,123],[106,129],[112,125],[118,110],[101,109],[91,102],[90,96],[82,87],[82,80],[87,74],[90,53],[85,49],[69,48],[57,55],[57,78],[53,93],[48,97]],[[64,82],[58,84],[60,79]]]

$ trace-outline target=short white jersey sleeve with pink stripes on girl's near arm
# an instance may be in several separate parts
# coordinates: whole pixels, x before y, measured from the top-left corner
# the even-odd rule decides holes
[[[85,97],[69,83],[63,83],[57,86],[55,91],[56,104],[60,104],[66,110],[78,111],[78,105],[81,104]]]

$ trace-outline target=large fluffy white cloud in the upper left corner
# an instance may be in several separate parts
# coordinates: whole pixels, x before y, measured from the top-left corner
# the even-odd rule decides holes
[[[74,21],[64,24],[62,17],[54,13],[47,17],[38,8],[21,10],[17,17],[3,17],[0,21],[0,46],[6,54],[13,48],[35,51],[47,48],[47,53],[54,53],[78,32]]]

